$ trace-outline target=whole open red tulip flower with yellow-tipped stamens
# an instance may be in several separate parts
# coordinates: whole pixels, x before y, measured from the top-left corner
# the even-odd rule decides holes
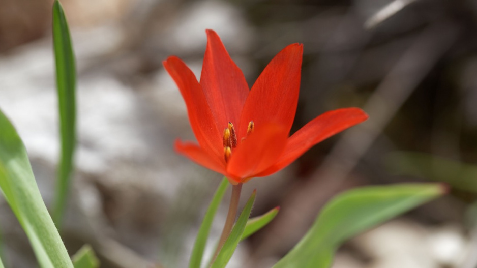
[[[275,173],[316,143],[365,121],[359,108],[323,113],[288,137],[300,91],[303,45],[291,44],[265,67],[249,90],[219,36],[207,30],[200,82],[180,58],[163,62],[186,102],[198,145],[175,150],[225,175],[230,183]]]

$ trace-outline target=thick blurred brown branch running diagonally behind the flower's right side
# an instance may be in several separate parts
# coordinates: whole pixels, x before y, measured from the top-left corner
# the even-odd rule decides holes
[[[268,255],[274,250],[283,252],[299,240],[320,206],[340,189],[383,128],[454,44],[458,33],[459,28],[455,25],[442,22],[429,26],[415,39],[364,106],[370,115],[368,122],[347,130],[341,136],[330,155],[312,175],[312,180],[296,182],[254,257]]]

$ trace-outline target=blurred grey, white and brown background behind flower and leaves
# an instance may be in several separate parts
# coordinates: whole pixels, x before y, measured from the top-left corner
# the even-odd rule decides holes
[[[253,215],[281,211],[228,267],[272,266],[341,191],[431,180],[448,183],[449,194],[355,237],[333,267],[477,267],[477,1],[61,2],[78,69],[79,144],[62,235],[70,253],[88,243],[102,267],[187,266],[221,176],[174,153],[175,138],[194,136],[162,61],[177,55],[198,76],[211,28],[249,86],[282,48],[304,44],[292,132],[327,110],[370,115],[244,185],[243,201],[257,188]],[[47,205],[59,151],[51,7],[0,0],[0,107],[25,142]],[[6,266],[36,266],[4,199],[0,215]]]

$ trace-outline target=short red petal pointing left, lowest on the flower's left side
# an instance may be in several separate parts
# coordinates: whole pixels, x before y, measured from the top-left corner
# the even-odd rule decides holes
[[[175,140],[174,149],[178,153],[188,157],[197,164],[212,169],[218,173],[226,174],[225,160],[220,161],[214,156],[207,154],[201,147],[193,143],[183,143],[181,140]]]

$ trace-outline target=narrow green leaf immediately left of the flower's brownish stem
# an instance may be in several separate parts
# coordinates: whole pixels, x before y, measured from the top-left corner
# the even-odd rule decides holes
[[[219,208],[222,198],[224,197],[228,185],[229,182],[227,178],[224,177],[219,185],[219,188],[217,188],[214,197],[212,198],[211,204],[208,206],[207,212],[205,213],[204,219],[202,220],[202,224],[200,225],[199,232],[197,233],[194,248],[192,249],[191,259],[189,261],[190,268],[200,268],[208,233],[211,230],[212,221],[214,220],[215,214]]]

